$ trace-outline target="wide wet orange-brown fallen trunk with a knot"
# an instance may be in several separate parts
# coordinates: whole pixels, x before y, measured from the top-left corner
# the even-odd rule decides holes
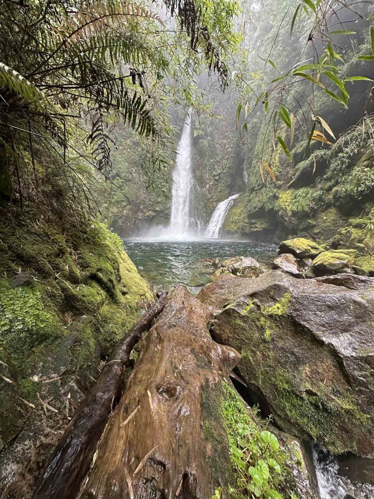
[[[217,423],[218,441],[206,439],[204,404],[228,380],[240,355],[211,339],[209,319],[205,306],[184,286],[170,293],[104,432],[80,498],[210,499],[217,487],[227,497],[227,437]],[[219,407],[211,400],[210,406],[209,424],[214,426]],[[221,443],[218,452],[214,446]]]

